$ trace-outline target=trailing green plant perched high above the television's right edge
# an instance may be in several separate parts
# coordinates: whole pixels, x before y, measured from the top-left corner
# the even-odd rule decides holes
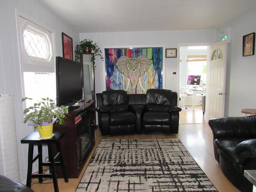
[[[94,61],[95,56],[99,56],[101,60],[103,60],[103,56],[101,54],[101,50],[96,43],[93,43],[90,39],[83,39],[76,46],[75,50],[75,59],[79,59],[82,53],[91,53],[93,51],[92,61]]]

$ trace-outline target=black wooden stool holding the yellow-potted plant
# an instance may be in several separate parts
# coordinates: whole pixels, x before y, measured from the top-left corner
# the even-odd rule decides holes
[[[27,173],[27,186],[31,187],[31,178],[39,178],[39,183],[42,182],[42,178],[52,178],[53,180],[53,186],[54,191],[58,192],[58,181],[56,177],[56,170],[55,170],[55,164],[60,164],[62,168],[62,173],[65,182],[67,183],[69,181],[65,164],[63,163],[63,158],[61,155],[59,140],[61,137],[63,137],[65,132],[53,132],[54,136],[50,139],[40,139],[38,132],[33,132],[27,137],[20,140],[21,143],[29,143],[29,152],[28,152],[28,173]],[[54,157],[53,151],[52,151],[52,144],[56,144],[57,147],[57,154]],[[34,151],[34,145],[37,145],[38,147],[38,154],[33,157],[33,151]],[[47,145],[48,147],[48,155],[49,155],[49,162],[42,162],[42,145]],[[38,174],[32,174],[32,167],[33,162],[38,159]],[[59,161],[56,161],[59,159]],[[50,174],[43,174],[42,173],[42,166],[49,166]]]

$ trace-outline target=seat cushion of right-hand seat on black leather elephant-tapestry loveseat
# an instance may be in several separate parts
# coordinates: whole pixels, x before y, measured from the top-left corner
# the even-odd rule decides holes
[[[166,112],[146,112],[143,115],[143,124],[170,124],[170,120],[170,114]]]

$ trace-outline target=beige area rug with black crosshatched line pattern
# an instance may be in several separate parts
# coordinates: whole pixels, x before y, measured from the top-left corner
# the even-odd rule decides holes
[[[101,140],[76,192],[217,191],[179,139]]]

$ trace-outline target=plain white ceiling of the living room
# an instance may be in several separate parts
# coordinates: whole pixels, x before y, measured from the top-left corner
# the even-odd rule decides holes
[[[255,0],[39,0],[80,33],[217,29]]]

